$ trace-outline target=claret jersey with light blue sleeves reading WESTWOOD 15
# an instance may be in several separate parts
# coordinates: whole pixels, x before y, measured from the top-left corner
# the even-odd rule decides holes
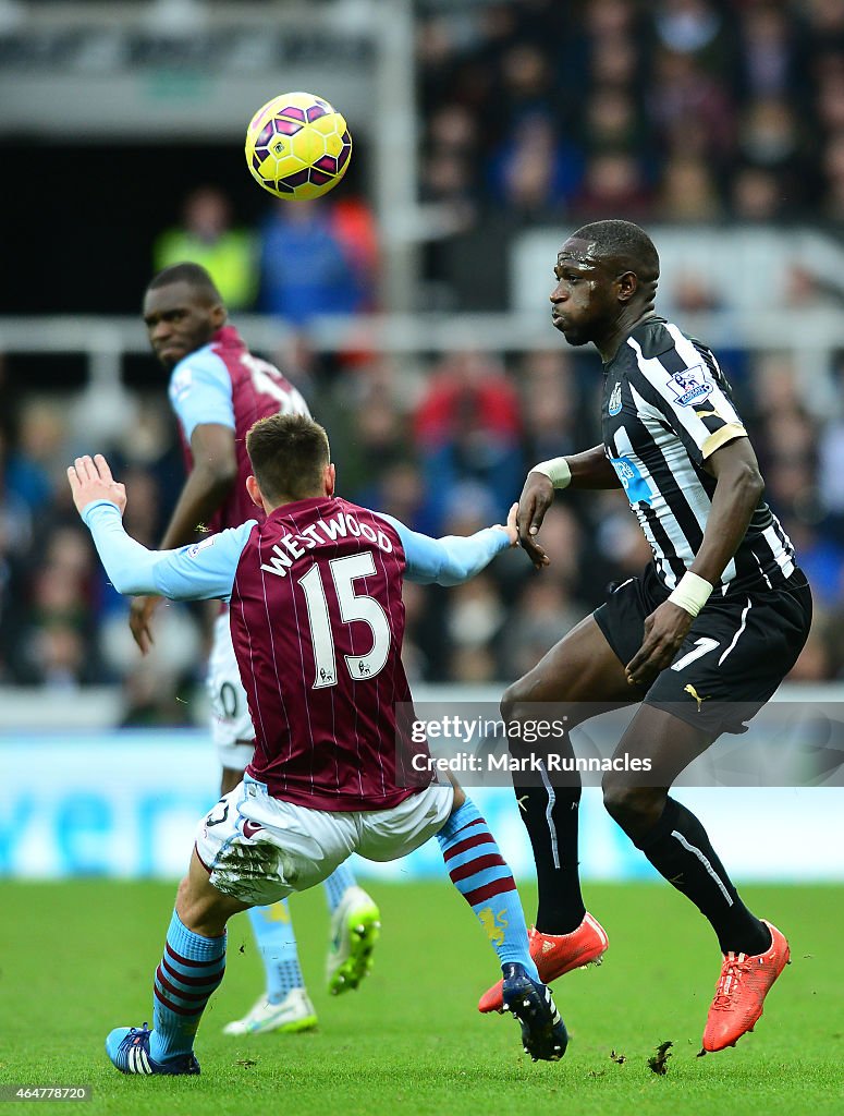
[[[429,781],[401,665],[401,584],[457,585],[510,545],[503,530],[431,539],[336,497],[298,500],[177,550],[147,550],[115,504],[85,509],[119,593],[230,600],[255,729],[246,769],[320,810],[379,810]]]

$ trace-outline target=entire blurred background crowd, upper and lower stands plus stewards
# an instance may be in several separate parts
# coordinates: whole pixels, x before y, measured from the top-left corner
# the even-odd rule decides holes
[[[502,244],[537,222],[844,220],[838,0],[431,0],[419,12],[426,305],[494,308]],[[328,427],[340,492],[410,527],[467,533],[503,521],[533,462],[600,441],[598,357],[561,338],[546,352],[466,347],[400,360],[313,352],[314,315],[378,306],[376,225],[350,194],[273,204],[242,228],[225,194],[197,186],[181,223],[151,246],[151,273],[182,259],[208,267],[235,324],[249,309],[294,327],[287,350],[262,355]],[[798,312],[828,296],[799,270],[787,283]],[[662,307],[682,326],[709,299],[689,279]],[[844,353],[812,386],[790,352],[737,343],[717,355],[815,594],[794,677],[842,679]],[[106,452],[129,491],[127,529],[157,543],[184,474],[152,357],[145,376],[120,407],[109,403],[93,445],[96,400],[36,393],[0,364],[0,684],[120,684],[126,723],[181,723],[192,718],[185,695],[203,676],[211,614],[159,609],[142,661],[127,603],[108,586],[65,480],[76,453]],[[650,556],[620,492],[557,499],[542,539],[552,557],[542,573],[513,550],[456,589],[406,586],[411,679],[515,679]]]

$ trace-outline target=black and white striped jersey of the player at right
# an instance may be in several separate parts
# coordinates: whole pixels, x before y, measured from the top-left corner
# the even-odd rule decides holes
[[[712,353],[664,318],[637,326],[605,365],[601,425],[604,451],[672,589],[704,540],[715,478],[704,462],[746,434]],[[741,589],[782,585],[795,569],[794,547],[760,500],[720,584]]]

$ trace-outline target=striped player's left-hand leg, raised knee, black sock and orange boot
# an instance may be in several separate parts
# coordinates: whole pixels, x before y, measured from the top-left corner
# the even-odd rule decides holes
[[[502,699],[507,725],[547,715],[540,704],[553,703],[553,718],[566,718],[570,728],[610,709],[640,700],[631,690],[624,668],[595,620],[588,616],[557,643]],[[510,747],[518,753],[517,735]],[[535,745],[532,745],[535,750]],[[569,737],[554,741],[554,752],[573,758]],[[536,925],[531,927],[531,956],[540,977],[550,983],[581,965],[600,964],[609,940],[603,926],[586,912],[578,870],[578,810],[580,776],[566,773],[564,785],[525,785],[514,779],[520,815],[527,829],[536,863],[540,892]],[[478,1011],[501,1011],[502,982],[488,989]]]

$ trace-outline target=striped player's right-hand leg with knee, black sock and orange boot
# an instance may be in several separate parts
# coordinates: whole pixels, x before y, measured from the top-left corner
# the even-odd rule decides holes
[[[686,894],[712,925],[725,954],[704,1032],[704,1050],[722,1050],[761,1016],[765,997],[788,961],[779,931],[739,898],[695,815],[671,798],[670,786],[711,743],[711,735],[666,710],[642,705],[615,754],[648,760],[642,776],[608,772],[604,804],[654,868]],[[636,780],[639,785],[634,785]]]

